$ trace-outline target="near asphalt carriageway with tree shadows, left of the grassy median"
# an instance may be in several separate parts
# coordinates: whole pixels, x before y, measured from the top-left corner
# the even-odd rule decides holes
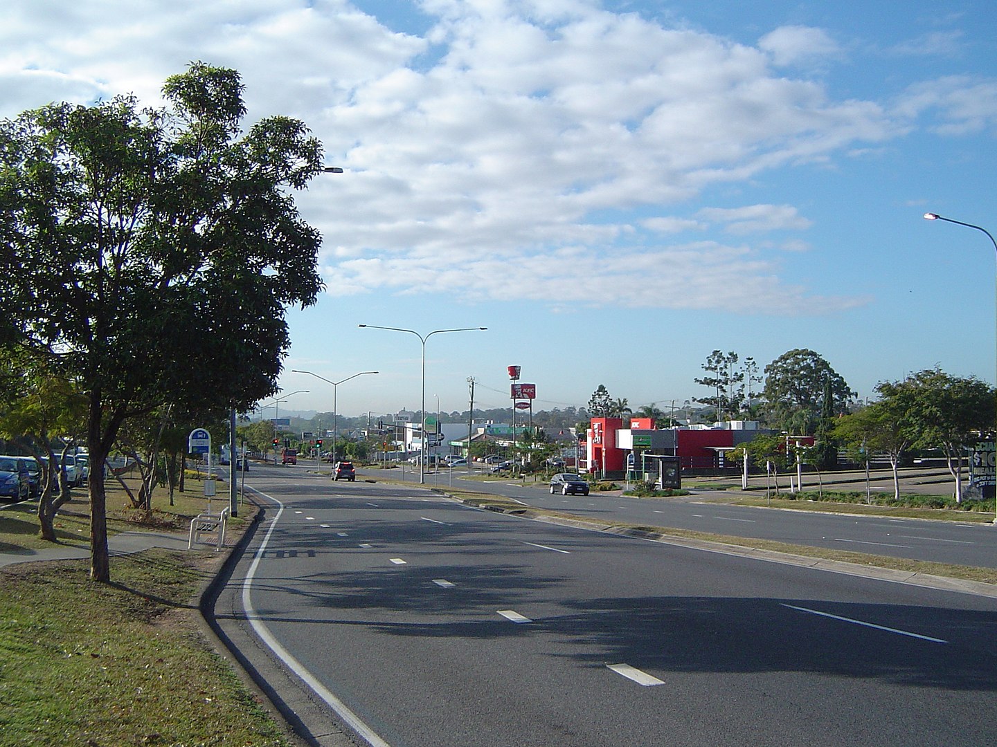
[[[281,695],[302,721],[332,703],[395,747],[997,742],[997,600],[415,486],[266,468],[247,482],[271,508],[219,609],[295,671],[272,682],[311,683]]]

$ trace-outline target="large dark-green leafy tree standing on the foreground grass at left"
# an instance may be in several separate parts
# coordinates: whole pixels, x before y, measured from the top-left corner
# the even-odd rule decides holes
[[[314,303],[320,237],[292,189],[321,170],[304,124],[244,133],[235,71],[192,64],[163,110],[134,97],[0,123],[0,335],[88,403],[91,577],[110,579],[104,462],[122,423],[275,390],[287,304]]]

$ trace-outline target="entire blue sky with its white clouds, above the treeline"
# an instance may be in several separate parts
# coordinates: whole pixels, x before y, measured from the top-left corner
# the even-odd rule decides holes
[[[995,377],[991,2],[8,0],[0,116],[241,73],[247,124],[299,118],[345,172],[298,204],[327,293],[288,312],[281,404],[539,409],[598,384],[709,395],[713,350],[824,356],[862,397]]]

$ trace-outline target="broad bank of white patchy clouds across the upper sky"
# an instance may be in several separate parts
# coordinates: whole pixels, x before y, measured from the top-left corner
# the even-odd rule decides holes
[[[699,240],[711,224],[741,236],[805,231],[797,208],[687,214],[706,190],[903,131],[902,107],[834,101],[819,81],[775,70],[839,56],[827,33],[774,29],[751,47],[591,2],[421,8],[433,19],[424,37],[343,0],[14,0],[0,28],[0,101],[7,116],[121,92],[152,104],[191,60],[238,69],[250,118],[303,119],[347,169],[301,198],[325,232],[335,295],[553,302],[556,282],[557,302],[628,307],[862,303],[781,280],[772,242]],[[959,113],[949,127],[987,118],[956,93],[943,101],[926,87],[909,99],[911,116],[947,103]],[[684,231],[695,243],[662,240]]]

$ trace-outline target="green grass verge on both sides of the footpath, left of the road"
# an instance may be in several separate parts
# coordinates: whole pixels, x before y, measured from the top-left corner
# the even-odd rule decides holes
[[[157,491],[141,517],[108,487],[111,532],[182,531],[206,502],[199,483],[172,507]],[[78,493],[56,525],[61,543],[89,545]],[[50,547],[21,508],[0,511],[0,551]],[[112,558],[111,584],[88,579],[89,560],[0,568],[0,746],[292,744],[200,633],[197,592],[218,563],[151,550]]]

